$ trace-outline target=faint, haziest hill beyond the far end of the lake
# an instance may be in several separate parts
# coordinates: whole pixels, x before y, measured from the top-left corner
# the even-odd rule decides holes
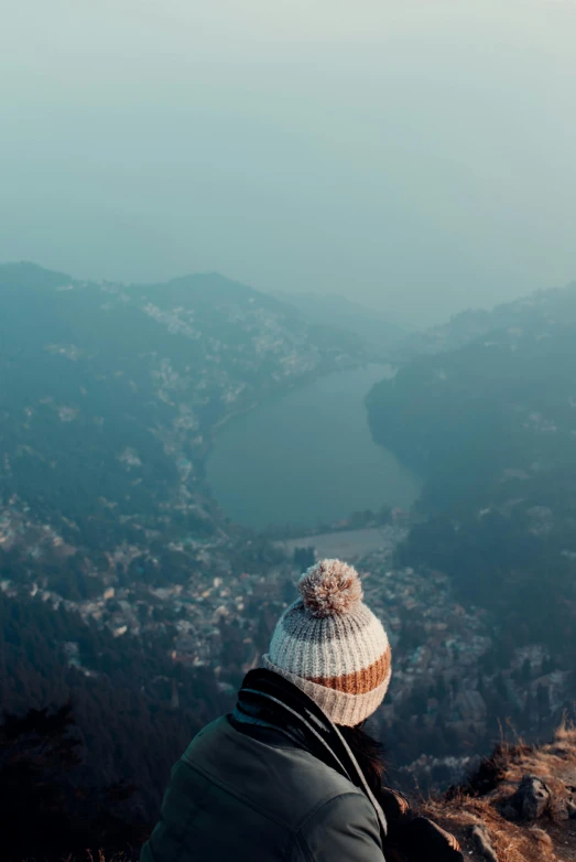
[[[388,356],[407,332],[404,326],[393,323],[384,312],[368,309],[359,302],[336,293],[274,293],[273,295],[298,309],[309,320],[355,332],[383,356]]]

